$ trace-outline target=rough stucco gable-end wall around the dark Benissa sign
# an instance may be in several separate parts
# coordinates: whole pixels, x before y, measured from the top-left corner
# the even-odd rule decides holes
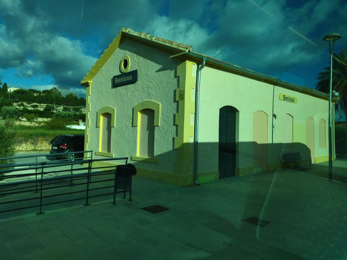
[[[131,60],[129,71],[138,70],[138,80],[113,88],[112,77],[122,73],[119,64],[125,55]],[[177,131],[174,125],[177,112],[174,91],[178,79],[175,76],[177,63],[169,56],[169,53],[127,39],[120,44],[92,79],[89,150],[99,150],[100,129],[96,128],[96,112],[103,106],[112,106],[116,109],[116,124],[111,133],[114,157],[129,157],[129,162],[138,168],[172,173],[177,157],[173,138]],[[158,164],[130,161],[131,156],[136,156],[137,144],[137,127],[132,126],[133,107],[145,100],[161,104],[160,126],[154,130],[154,158],[159,160]],[[95,158],[105,157],[96,155]]]

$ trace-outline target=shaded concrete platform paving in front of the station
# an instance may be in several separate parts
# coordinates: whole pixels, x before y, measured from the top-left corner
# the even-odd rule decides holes
[[[0,258],[347,258],[347,184],[307,170],[190,187],[133,177],[133,202],[120,197],[117,205],[111,196],[42,215],[2,213]],[[152,205],[169,210],[141,209]],[[244,221],[250,217],[271,223]]]

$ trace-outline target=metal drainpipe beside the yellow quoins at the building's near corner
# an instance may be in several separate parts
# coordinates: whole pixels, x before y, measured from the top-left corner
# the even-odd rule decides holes
[[[205,67],[206,58],[202,58],[202,65],[197,70],[196,92],[195,92],[195,127],[194,127],[194,183],[200,185],[197,181],[197,149],[198,149],[198,130],[199,130],[199,95],[201,70]]]

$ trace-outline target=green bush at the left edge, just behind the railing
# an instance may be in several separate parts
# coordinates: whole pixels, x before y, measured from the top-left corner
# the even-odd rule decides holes
[[[0,158],[15,154],[16,126],[12,120],[0,121]],[[0,160],[0,165],[11,164],[11,160]]]

